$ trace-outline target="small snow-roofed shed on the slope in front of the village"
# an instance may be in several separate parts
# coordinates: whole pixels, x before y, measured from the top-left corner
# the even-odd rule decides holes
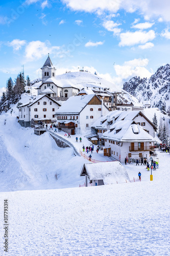
[[[85,163],[80,176],[88,177],[93,186],[130,181],[127,170],[118,161]]]

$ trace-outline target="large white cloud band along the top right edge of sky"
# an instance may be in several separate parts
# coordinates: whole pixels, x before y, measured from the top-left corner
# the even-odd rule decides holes
[[[169,0],[62,0],[68,8],[74,11],[85,11],[85,12],[98,12],[103,14],[105,11],[116,13],[120,9],[124,9],[126,12],[138,11],[146,19],[150,18],[162,18],[166,22],[170,21]]]

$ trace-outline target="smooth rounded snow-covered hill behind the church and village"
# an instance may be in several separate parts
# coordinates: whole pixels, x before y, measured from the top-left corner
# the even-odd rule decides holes
[[[135,106],[142,106],[142,103],[138,101],[134,96],[119,88],[115,84],[105,80],[104,78],[91,74],[89,72],[71,72],[55,77],[58,86],[75,86],[80,90],[83,88],[103,88],[112,93],[117,93],[117,103],[127,103],[131,101]],[[32,87],[37,88],[41,84],[41,79],[37,78],[31,82]]]

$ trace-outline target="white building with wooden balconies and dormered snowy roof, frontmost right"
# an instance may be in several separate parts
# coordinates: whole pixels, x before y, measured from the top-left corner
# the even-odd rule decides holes
[[[111,156],[120,162],[124,162],[125,158],[129,161],[149,158],[154,150],[155,139],[132,120],[116,121],[102,138],[105,140],[104,156]]]

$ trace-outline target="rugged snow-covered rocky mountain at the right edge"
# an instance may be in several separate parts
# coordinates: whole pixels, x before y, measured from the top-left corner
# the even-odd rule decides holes
[[[123,89],[140,102],[150,100],[151,107],[166,111],[170,106],[170,65],[160,67],[149,79],[131,78],[124,83]]]

